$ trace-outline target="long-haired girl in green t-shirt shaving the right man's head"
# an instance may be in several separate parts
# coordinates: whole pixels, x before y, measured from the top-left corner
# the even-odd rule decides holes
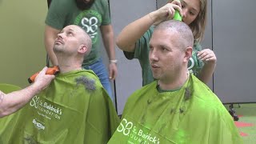
[[[160,9],[131,22],[121,31],[116,43],[123,50],[126,58],[138,58],[142,67],[142,86],[154,81],[148,58],[149,41],[154,31],[153,25],[156,26],[160,22],[172,19],[175,10],[178,10],[182,15],[182,22],[190,26],[194,35],[193,53],[190,62],[188,62],[188,69],[202,82],[210,81],[217,58],[214,51],[202,50],[200,46],[206,27],[206,7],[207,0],[170,1]]]

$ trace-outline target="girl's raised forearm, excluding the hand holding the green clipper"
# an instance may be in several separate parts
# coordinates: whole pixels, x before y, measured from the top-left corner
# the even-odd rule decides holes
[[[120,34],[118,34],[116,39],[117,46],[121,50],[134,52],[135,43],[153,24],[154,20],[152,14],[146,14],[144,17],[131,22],[128,26],[122,29]]]

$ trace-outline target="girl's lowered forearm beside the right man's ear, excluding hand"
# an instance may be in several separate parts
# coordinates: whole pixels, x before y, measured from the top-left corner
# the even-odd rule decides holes
[[[215,70],[215,66],[216,63],[213,64],[205,64],[202,67],[202,70],[200,71],[200,73],[198,74],[198,78],[204,82],[205,84],[207,84],[208,82],[210,82],[210,78],[212,78],[213,74],[214,74],[214,70]]]

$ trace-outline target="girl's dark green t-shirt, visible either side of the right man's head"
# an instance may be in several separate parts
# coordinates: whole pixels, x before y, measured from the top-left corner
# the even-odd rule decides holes
[[[149,84],[154,81],[153,74],[150,68],[150,38],[152,37],[154,28],[150,27],[149,30],[135,43],[135,51],[134,52],[126,52],[124,54],[126,58],[133,59],[137,58],[141,67],[142,67],[142,86]],[[198,42],[194,44],[192,57],[188,63],[188,70],[191,74],[198,76],[199,71],[202,69],[203,62],[198,59],[197,52],[202,50],[202,47]]]

